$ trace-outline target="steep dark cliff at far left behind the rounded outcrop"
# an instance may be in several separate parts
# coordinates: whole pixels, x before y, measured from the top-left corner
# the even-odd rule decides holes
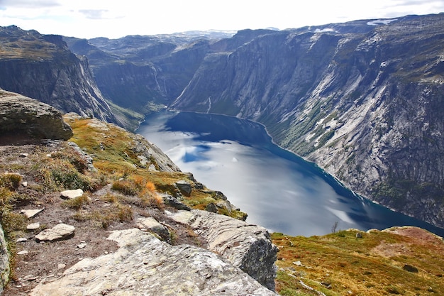
[[[87,60],[71,53],[62,36],[9,26],[0,28],[0,44],[1,88],[116,123]]]

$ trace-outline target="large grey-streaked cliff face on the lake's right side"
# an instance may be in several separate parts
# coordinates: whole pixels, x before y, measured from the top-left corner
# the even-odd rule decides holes
[[[444,226],[444,15],[266,32],[206,56],[176,109],[260,121],[351,189]]]

